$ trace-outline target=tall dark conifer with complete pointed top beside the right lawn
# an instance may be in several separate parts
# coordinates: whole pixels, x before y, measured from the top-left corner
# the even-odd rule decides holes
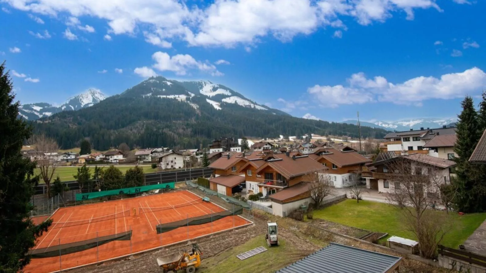
[[[471,97],[466,97],[461,103],[462,112],[458,116],[456,142],[454,152],[458,155],[456,161],[457,178],[451,182],[458,189],[459,196],[455,200],[457,209],[463,212],[477,212],[481,210],[482,204],[479,196],[479,184],[471,177],[473,168],[469,163],[476,144],[479,140],[478,115],[474,109]]]

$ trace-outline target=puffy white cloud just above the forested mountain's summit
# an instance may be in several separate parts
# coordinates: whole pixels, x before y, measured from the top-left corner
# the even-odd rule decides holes
[[[173,71],[177,75],[186,75],[189,69],[198,69],[203,72],[208,72],[212,76],[224,75],[218,71],[214,65],[208,62],[203,63],[201,61],[196,61],[189,54],[177,54],[171,57],[166,52],[157,51],[152,55],[152,59],[156,61],[152,66],[153,68],[160,71]]]

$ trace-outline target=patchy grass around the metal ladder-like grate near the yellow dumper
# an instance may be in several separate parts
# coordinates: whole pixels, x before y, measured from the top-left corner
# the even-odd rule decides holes
[[[276,272],[277,270],[305,256],[299,253],[298,249],[288,246],[285,240],[280,238],[279,242],[280,245],[278,247],[268,247],[265,241],[265,235],[260,234],[242,245],[228,249],[227,251],[224,251],[216,256],[203,259],[198,272],[271,273]],[[268,250],[253,257],[244,259],[243,261],[236,257],[243,252],[255,249],[259,246],[263,246]]]

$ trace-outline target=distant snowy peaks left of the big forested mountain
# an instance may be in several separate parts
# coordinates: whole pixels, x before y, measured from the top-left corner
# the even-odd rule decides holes
[[[61,111],[78,110],[89,107],[103,101],[105,98],[106,96],[99,89],[90,88],[82,94],[69,98],[60,106],[52,105],[47,102],[22,104],[18,107],[18,115],[27,120],[35,120],[49,117]]]

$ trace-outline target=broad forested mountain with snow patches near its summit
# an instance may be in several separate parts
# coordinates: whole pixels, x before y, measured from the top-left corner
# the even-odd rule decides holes
[[[57,139],[63,149],[85,137],[95,149],[107,150],[122,142],[130,147],[198,148],[221,136],[358,136],[355,125],[295,118],[221,88],[195,94],[194,88],[189,91],[174,80],[151,78],[91,107],[39,119],[33,126],[36,133]],[[361,133],[381,138],[386,131],[362,127]]]

